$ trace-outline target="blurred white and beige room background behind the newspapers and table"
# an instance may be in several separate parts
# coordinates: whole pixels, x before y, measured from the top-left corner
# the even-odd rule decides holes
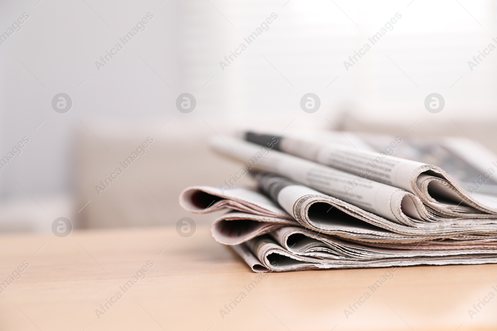
[[[239,169],[207,139],[246,128],[459,136],[497,151],[495,1],[4,0],[0,22],[0,231],[50,231],[57,217],[175,224],[184,188]],[[59,93],[72,105],[56,111]],[[306,93],[317,112],[301,109]]]

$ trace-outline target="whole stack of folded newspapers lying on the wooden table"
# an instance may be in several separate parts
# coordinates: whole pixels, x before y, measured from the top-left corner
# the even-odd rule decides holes
[[[375,152],[317,135],[219,136],[211,146],[240,170],[221,186],[185,189],[180,204],[227,208],[212,234],[256,272],[497,263],[497,198],[393,156],[401,142]],[[236,186],[243,176],[258,190]]]

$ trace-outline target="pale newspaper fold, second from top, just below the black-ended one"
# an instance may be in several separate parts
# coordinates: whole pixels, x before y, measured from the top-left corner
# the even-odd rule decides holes
[[[215,137],[211,145],[244,162],[247,170],[288,177],[392,221],[413,226],[416,222],[434,221],[421,200],[402,189],[365,179],[353,193],[347,193],[344,186],[355,177],[348,172],[236,138]]]

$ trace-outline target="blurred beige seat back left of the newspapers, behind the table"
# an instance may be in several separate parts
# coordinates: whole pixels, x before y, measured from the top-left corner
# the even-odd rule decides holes
[[[179,206],[178,196],[188,186],[221,185],[240,166],[208,148],[207,139],[216,133],[207,125],[195,127],[171,120],[159,131],[163,125],[110,129],[90,124],[87,126],[91,132],[76,133],[76,210],[87,203],[77,212],[77,227],[175,224],[184,216],[197,223],[211,223],[220,214],[186,212]],[[185,127],[188,130],[180,130]],[[125,163],[147,137],[153,142],[143,148],[145,154],[137,152],[131,165],[130,161]],[[122,170],[120,175],[115,174],[116,168]],[[111,182],[106,176],[117,178]],[[105,181],[107,187],[100,181]],[[253,185],[248,175],[238,184]]]

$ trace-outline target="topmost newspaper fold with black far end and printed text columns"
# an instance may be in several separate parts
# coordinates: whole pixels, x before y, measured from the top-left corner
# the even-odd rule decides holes
[[[274,135],[246,133],[246,139],[261,145],[274,140]],[[475,199],[449,174],[437,166],[389,155],[402,138],[396,137],[385,151],[375,153],[339,143],[330,143],[312,136],[276,136],[274,148],[323,165],[354,174],[343,185],[353,193],[366,179],[394,186],[414,194],[432,213],[431,218],[495,218],[497,200]]]

